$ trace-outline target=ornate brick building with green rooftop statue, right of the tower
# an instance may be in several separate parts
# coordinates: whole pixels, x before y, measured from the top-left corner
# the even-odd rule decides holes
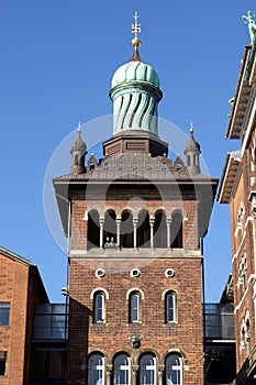
[[[248,12],[251,24],[254,25]],[[245,16],[245,19],[248,19]],[[252,36],[255,34],[253,33]],[[226,156],[219,201],[230,204],[234,306],[236,327],[236,384],[256,383],[256,45],[245,47],[226,136],[240,148]]]

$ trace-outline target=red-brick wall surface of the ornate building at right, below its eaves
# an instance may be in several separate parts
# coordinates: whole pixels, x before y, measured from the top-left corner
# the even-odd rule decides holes
[[[241,176],[235,189],[234,197],[231,201],[231,233],[232,233],[232,254],[233,254],[233,279],[234,279],[234,305],[235,305],[235,336],[236,336],[236,366],[237,372],[246,360],[249,348],[242,346],[241,337],[242,321],[249,314],[251,323],[251,349],[255,345],[255,306],[253,300],[253,284],[255,274],[254,257],[254,235],[253,235],[253,216],[251,202],[248,201],[249,173],[247,164],[248,153],[245,153]],[[238,223],[238,210],[241,204],[244,207],[243,219]],[[240,229],[238,229],[240,227]],[[243,287],[240,279],[240,266],[243,257],[247,261],[247,285]]]

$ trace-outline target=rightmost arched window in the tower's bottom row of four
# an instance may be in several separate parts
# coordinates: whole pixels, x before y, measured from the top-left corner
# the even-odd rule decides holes
[[[178,354],[169,354],[165,363],[166,385],[182,385],[182,360]]]

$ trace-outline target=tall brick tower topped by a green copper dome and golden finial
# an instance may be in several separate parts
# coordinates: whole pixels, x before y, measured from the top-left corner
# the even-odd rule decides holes
[[[138,55],[112,78],[103,158],[78,130],[69,175],[54,179],[70,235],[69,385],[203,384],[202,254],[218,180],[193,138],[168,157],[158,136],[156,72]],[[171,140],[175,140],[172,138]]]

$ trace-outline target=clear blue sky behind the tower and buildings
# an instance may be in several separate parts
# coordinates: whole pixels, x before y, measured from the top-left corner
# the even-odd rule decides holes
[[[193,121],[214,177],[226,152],[240,147],[224,139],[227,100],[249,43],[241,16],[256,11],[255,1],[1,0],[0,244],[38,265],[53,301],[64,299],[66,261],[44,213],[47,165],[59,143],[75,138],[78,121],[111,114],[111,77],[132,56],[135,10],[141,56],[157,70],[164,92],[159,116],[185,132]],[[102,140],[108,133],[111,127]],[[85,141],[90,135],[84,132]],[[63,174],[70,167],[68,146],[66,160]],[[204,242],[208,301],[219,300],[231,272],[229,220],[229,207],[215,204]]]

